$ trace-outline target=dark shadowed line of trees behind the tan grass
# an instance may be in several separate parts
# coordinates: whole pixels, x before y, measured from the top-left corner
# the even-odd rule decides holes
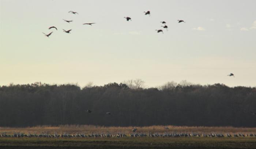
[[[0,126],[256,126],[255,88],[183,81],[146,89],[143,82],[126,83],[2,86]]]

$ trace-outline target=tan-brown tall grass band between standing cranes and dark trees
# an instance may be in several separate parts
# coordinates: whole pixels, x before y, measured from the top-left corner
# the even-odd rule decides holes
[[[169,127],[169,129],[165,129]],[[26,128],[15,128],[15,127],[0,127],[0,133],[6,132],[7,134],[14,134],[15,132],[20,133],[48,133],[54,134],[55,132],[60,133],[132,133],[132,129],[135,127],[105,127],[105,126],[93,126],[93,125],[60,125],[60,126],[35,126]],[[256,127],[254,128],[237,128],[237,127],[188,127],[188,126],[146,126],[136,127],[138,133],[163,133],[163,132],[177,132],[177,133],[256,133]]]

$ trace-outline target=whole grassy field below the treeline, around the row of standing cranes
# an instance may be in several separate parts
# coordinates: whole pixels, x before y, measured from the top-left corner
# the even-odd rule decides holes
[[[166,129],[168,127],[169,129]],[[214,148],[214,149],[255,149],[256,137],[130,137],[133,127],[101,127],[101,126],[38,126],[29,128],[1,127],[0,133],[67,133],[67,134],[91,134],[91,133],[124,133],[127,137],[118,138],[38,138],[38,137],[0,137],[0,149],[10,148],[53,148],[53,149],[110,149],[110,148]],[[256,134],[256,128],[235,127],[185,127],[185,126],[150,126],[136,127],[136,133],[221,133],[221,134]]]

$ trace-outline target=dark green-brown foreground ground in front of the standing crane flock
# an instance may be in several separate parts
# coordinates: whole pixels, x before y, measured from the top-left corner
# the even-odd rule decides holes
[[[208,148],[255,149],[255,138],[0,138],[0,148]]]

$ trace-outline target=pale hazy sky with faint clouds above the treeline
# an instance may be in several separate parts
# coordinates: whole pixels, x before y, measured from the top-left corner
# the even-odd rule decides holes
[[[182,80],[255,87],[255,6],[255,0],[0,0],[0,85],[142,79],[146,87]],[[42,34],[51,31],[49,38]]]

